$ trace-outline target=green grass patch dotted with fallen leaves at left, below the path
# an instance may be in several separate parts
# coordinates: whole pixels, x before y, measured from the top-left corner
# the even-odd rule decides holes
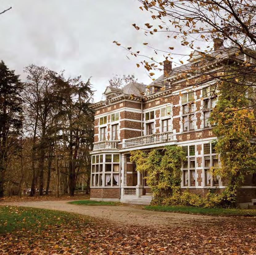
[[[14,206],[0,206],[0,233],[41,231],[74,220],[70,213]]]

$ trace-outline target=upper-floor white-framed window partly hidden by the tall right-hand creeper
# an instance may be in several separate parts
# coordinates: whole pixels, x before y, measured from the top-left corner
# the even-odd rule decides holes
[[[215,93],[216,86],[211,85],[202,89],[204,99],[203,116],[204,127],[210,127],[210,115],[217,102],[217,94]]]

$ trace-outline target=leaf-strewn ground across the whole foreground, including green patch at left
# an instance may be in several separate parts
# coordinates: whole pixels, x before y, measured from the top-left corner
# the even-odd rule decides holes
[[[3,255],[256,254],[255,218],[161,228],[35,208],[0,207],[0,215]]]

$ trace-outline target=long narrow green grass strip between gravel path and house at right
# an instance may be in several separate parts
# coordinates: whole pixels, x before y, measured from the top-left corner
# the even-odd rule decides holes
[[[256,216],[256,210],[247,209],[224,209],[224,208],[202,208],[191,206],[163,206],[147,205],[144,207],[149,211],[180,212],[188,214],[220,215],[220,216]]]

